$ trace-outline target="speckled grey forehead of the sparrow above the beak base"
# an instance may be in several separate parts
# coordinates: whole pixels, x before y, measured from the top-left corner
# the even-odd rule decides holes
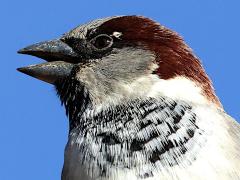
[[[112,16],[112,17],[106,17],[102,19],[96,19],[93,21],[90,21],[89,23],[82,24],[77,26],[76,28],[70,30],[68,33],[63,35],[63,38],[77,38],[77,39],[86,39],[86,36],[89,32],[94,33],[98,27],[100,27],[105,22],[117,18],[121,16]]]

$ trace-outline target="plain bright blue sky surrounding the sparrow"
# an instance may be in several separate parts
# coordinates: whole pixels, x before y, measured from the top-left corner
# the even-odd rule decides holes
[[[43,62],[16,51],[99,17],[137,14],[179,32],[240,120],[240,1],[1,0],[0,179],[60,179],[68,123],[54,88],[17,72]]]

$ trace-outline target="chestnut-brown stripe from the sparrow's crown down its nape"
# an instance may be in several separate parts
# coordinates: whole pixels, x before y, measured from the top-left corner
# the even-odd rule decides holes
[[[156,54],[159,65],[157,74],[162,79],[184,76],[195,81],[203,89],[203,94],[221,107],[215,95],[211,80],[201,62],[175,32],[139,16],[122,16],[105,22],[100,29],[105,33],[121,32],[121,39],[143,45]]]

